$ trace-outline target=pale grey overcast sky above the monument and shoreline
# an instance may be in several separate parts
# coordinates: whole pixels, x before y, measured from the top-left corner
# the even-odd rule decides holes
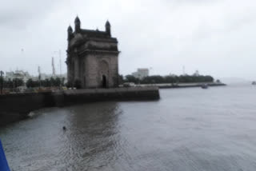
[[[3,1],[3,0],[1,0]],[[78,14],[83,29],[118,38],[120,74],[199,70],[214,78],[256,79],[255,0],[9,0],[0,6],[0,70],[66,72],[66,30]],[[54,52],[55,51],[55,52]]]

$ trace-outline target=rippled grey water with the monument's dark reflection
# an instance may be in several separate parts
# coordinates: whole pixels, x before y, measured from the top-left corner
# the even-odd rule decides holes
[[[10,167],[256,170],[256,86],[164,89],[161,97],[37,111],[0,130]]]

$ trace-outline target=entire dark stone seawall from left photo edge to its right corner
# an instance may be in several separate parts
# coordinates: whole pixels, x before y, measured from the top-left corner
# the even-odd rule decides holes
[[[150,101],[160,98],[158,87],[72,89],[46,93],[0,95],[0,126],[26,117],[44,107],[76,105],[94,101]]]

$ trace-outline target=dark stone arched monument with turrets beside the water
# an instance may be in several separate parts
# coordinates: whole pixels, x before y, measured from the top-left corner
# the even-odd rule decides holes
[[[68,27],[66,64],[68,82],[87,88],[118,87],[118,40],[111,37],[110,22],[106,30],[84,30],[78,17],[74,30]]]

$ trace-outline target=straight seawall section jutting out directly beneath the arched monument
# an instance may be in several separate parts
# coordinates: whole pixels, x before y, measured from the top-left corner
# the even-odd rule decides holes
[[[158,100],[159,97],[158,87],[76,89],[54,93],[57,106],[93,101],[147,101]]]

